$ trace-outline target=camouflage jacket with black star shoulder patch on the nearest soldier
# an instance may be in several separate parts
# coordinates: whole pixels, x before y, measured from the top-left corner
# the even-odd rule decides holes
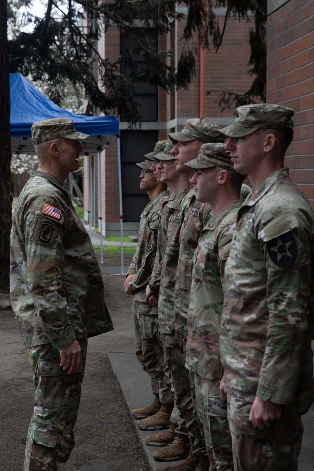
[[[225,267],[220,353],[227,387],[291,404],[313,385],[314,214],[288,169],[238,213]]]

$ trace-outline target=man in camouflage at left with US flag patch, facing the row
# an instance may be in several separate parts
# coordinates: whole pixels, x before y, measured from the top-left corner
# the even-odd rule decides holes
[[[93,246],[64,179],[78,170],[70,119],[32,125],[39,168],[19,196],[10,238],[12,309],[33,370],[24,471],[56,471],[74,447],[88,337],[113,330]]]

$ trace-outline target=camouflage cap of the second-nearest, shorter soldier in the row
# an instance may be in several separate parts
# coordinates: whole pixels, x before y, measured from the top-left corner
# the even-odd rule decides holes
[[[196,159],[186,162],[185,165],[191,169],[208,169],[220,167],[235,172],[230,158],[230,152],[225,150],[225,144],[203,144]],[[237,173],[237,172],[235,172]]]

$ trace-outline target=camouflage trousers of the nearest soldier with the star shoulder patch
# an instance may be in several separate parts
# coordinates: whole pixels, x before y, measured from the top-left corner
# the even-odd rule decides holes
[[[303,425],[301,415],[313,402],[305,389],[291,406],[282,406],[282,418],[259,430],[249,421],[256,395],[228,389],[228,420],[235,471],[297,471]]]

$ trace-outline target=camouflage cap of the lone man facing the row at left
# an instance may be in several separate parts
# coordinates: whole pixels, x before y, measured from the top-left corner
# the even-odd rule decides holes
[[[70,118],[51,118],[32,124],[32,144],[60,138],[86,139],[89,135],[76,131]]]

